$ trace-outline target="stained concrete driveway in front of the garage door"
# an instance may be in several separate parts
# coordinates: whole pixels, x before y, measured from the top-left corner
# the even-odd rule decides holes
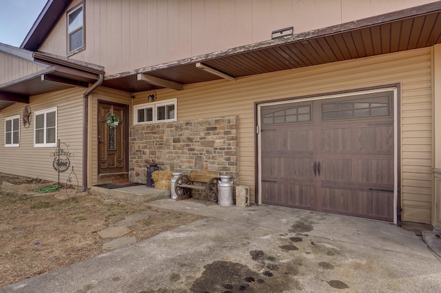
[[[441,292],[441,262],[414,232],[270,205],[165,199],[207,216],[0,292]]]

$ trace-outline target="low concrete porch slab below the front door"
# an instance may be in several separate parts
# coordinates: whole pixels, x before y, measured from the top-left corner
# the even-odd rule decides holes
[[[158,190],[156,188],[147,188],[145,185],[129,186],[125,188],[99,188],[92,186],[91,194],[108,195],[115,199],[123,199],[134,203],[147,203],[158,199],[170,199],[170,190]]]

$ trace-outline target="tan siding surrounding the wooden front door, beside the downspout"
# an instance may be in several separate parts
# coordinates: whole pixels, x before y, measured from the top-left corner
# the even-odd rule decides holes
[[[92,145],[91,156],[88,160],[89,168],[88,168],[88,186],[96,185],[98,183],[98,117],[96,116],[98,113],[98,101],[108,101],[113,103],[121,103],[131,105],[132,98],[131,95],[127,92],[121,92],[118,90],[110,90],[107,88],[99,88],[94,91],[89,97],[89,125],[90,133],[89,133],[89,145]],[[129,117],[132,117],[132,109],[129,107],[130,113]],[[130,119],[130,125],[132,125],[132,119]],[[127,142],[128,143],[128,142]]]

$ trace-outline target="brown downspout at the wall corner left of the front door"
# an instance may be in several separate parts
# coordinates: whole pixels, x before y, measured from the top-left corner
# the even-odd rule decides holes
[[[99,74],[98,81],[94,83],[90,88],[85,90],[83,94],[83,189],[81,192],[85,192],[88,189],[88,134],[89,134],[89,95],[92,94],[96,88],[99,88],[103,83],[104,74]]]

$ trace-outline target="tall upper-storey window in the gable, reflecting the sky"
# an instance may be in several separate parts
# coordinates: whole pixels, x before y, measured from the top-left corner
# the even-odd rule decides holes
[[[68,56],[84,50],[83,3],[68,11]]]

